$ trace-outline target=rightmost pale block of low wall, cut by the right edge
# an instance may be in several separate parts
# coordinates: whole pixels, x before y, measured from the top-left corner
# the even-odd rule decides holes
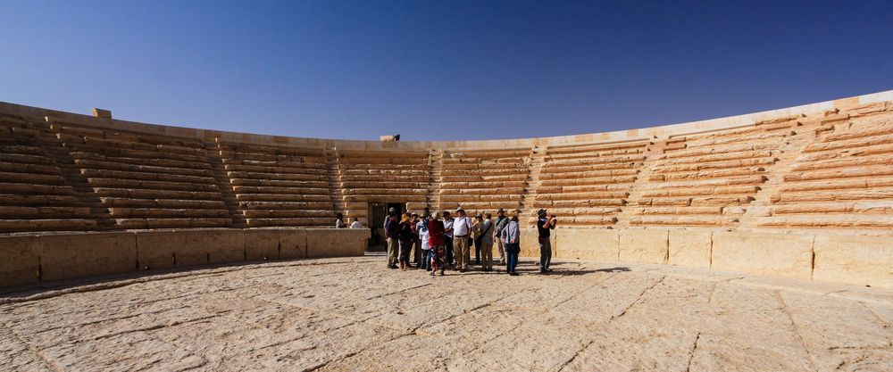
[[[893,241],[884,236],[815,236],[813,279],[893,288]]]

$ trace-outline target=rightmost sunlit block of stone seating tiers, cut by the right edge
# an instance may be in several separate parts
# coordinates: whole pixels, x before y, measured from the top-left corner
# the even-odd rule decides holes
[[[769,198],[759,226],[893,227],[893,123],[870,114],[847,116],[815,133]]]

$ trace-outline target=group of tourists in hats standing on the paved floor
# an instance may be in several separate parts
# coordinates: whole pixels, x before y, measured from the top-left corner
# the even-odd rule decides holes
[[[518,275],[518,254],[521,253],[521,227],[518,215],[509,217],[505,210],[492,214],[467,216],[460,208],[455,218],[449,211],[431,215],[425,208],[417,213],[398,215],[396,209],[388,211],[385,220],[385,237],[388,242],[388,269],[425,269],[430,275],[444,275],[447,269],[466,272],[472,265],[471,247],[474,247],[474,265],[483,271],[493,270],[493,246],[497,246],[499,264],[505,272]],[[540,248],[539,271],[552,271],[552,247],[549,236],[555,229],[556,219],[546,210],[538,211],[538,238]],[[412,262],[411,262],[412,260]],[[399,265],[399,266],[397,266]]]

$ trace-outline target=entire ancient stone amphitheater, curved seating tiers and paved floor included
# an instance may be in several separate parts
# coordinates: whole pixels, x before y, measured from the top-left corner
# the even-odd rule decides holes
[[[890,371],[891,164],[893,91],[455,142],[0,103],[0,370]],[[394,205],[517,211],[522,276],[330,228]]]

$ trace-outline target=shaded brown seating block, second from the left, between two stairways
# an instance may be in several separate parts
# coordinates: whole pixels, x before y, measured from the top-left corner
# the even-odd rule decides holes
[[[117,227],[230,226],[201,141],[57,123],[52,128]]]

